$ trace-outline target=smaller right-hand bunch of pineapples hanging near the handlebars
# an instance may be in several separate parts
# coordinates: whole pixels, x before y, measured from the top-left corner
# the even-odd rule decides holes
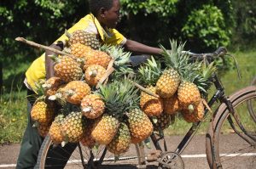
[[[172,50],[161,46],[163,58],[148,59],[138,70],[143,86],[159,95],[156,98],[142,92],[140,99],[140,107],[151,117],[155,130],[165,129],[179,114],[188,122],[201,121],[203,94],[207,93],[209,78],[215,71],[213,65],[189,63],[189,55],[183,52],[184,44],[170,42]]]

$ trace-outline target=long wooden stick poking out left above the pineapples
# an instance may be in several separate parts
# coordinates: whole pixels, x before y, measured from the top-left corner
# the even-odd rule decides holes
[[[77,59],[77,57],[75,57],[73,54],[67,54],[65,52],[62,52],[61,50],[57,50],[55,48],[50,48],[50,47],[38,44],[36,42],[28,41],[24,37],[16,37],[15,40],[19,41],[19,42],[24,42],[24,43],[26,43],[26,44],[28,44],[32,47],[35,47],[35,48],[44,48],[45,50],[49,50],[49,51],[54,52],[56,54],[67,55],[67,56],[71,57],[72,59]]]

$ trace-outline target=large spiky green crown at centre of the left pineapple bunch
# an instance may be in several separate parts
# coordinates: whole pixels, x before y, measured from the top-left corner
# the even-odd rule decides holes
[[[139,99],[138,89],[127,77],[106,86],[101,85],[96,93],[102,97],[108,114],[117,118],[122,118],[125,111],[137,107]]]

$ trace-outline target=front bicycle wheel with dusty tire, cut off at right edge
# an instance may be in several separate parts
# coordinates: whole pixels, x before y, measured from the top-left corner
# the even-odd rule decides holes
[[[247,100],[256,109],[256,87],[243,88],[230,100],[245,130],[237,125],[227,106],[221,104],[207,132],[207,161],[214,169],[256,168],[256,123],[247,109]],[[234,127],[230,127],[230,121]]]

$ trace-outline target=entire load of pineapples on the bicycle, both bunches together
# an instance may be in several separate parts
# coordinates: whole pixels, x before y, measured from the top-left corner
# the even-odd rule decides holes
[[[31,113],[38,132],[49,133],[55,144],[81,142],[90,149],[103,144],[120,155],[153,130],[168,127],[178,111],[189,122],[203,118],[201,91],[207,91],[213,69],[189,64],[183,45],[171,42],[171,52],[162,48],[163,63],[148,59],[136,70],[127,65],[131,54],[123,48],[100,47],[96,36],[81,30],[67,35],[65,51],[75,57],[53,57],[55,76],[40,86],[43,96]],[[102,78],[107,80],[100,84]],[[139,92],[133,81],[159,97]]]

